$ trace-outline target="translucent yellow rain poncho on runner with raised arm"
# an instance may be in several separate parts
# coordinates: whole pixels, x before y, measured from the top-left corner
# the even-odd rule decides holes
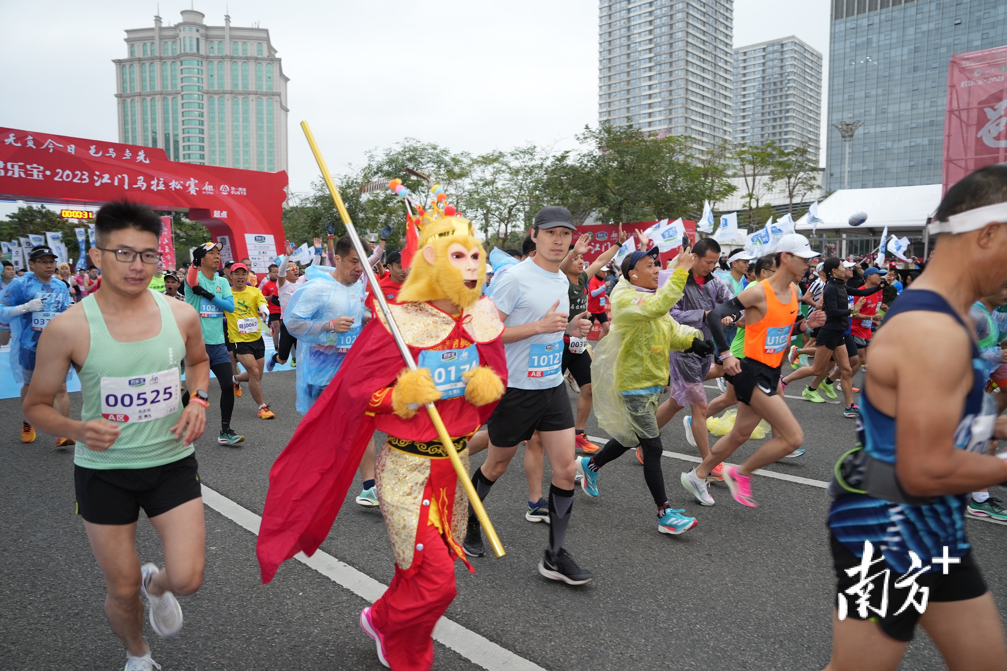
[[[689,274],[678,269],[657,293],[638,291],[625,278],[610,297],[608,335],[594,348],[591,389],[598,427],[621,445],[636,445],[643,435],[626,411],[623,391],[668,384],[671,350],[692,346],[703,334],[672,319],[669,311],[682,298]]]

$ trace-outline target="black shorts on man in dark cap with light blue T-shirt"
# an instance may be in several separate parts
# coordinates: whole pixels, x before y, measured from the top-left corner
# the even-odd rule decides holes
[[[566,384],[551,389],[509,386],[486,423],[489,442],[497,448],[513,448],[537,431],[564,431],[573,426]]]

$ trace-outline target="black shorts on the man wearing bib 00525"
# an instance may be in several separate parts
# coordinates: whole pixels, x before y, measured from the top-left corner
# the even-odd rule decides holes
[[[195,455],[146,469],[74,467],[77,511],[92,524],[132,524],[202,496]]]

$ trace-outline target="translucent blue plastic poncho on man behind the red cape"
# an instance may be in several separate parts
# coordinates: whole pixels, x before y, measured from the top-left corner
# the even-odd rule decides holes
[[[297,338],[297,410],[306,413],[339,370],[342,359],[364,328],[365,284],[346,286],[332,277],[335,269],[312,266],[307,282],[290,297],[283,324]],[[332,331],[330,320],[352,317],[345,333]]]

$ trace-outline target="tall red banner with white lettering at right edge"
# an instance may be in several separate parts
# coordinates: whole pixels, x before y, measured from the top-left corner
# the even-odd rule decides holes
[[[944,191],[1007,161],[1007,46],[951,57],[945,111]]]

